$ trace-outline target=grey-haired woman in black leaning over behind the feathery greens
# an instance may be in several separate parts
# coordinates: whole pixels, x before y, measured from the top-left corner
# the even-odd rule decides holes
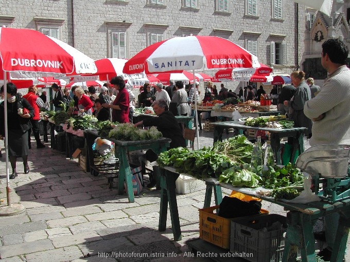
[[[174,115],[169,111],[168,103],[164,99],[156,100],[151,105],[153,107],[155,115],[158,117],[146,118],[143,121],[137,122],[135,126],[156,126],[159,132],[162,133],[163,137],[170,138],[170,148],[175,147],[186,147],[185,139],[182,134],[182,130],[179,126],[178,121]],[[151,149],[146,152],[146,159],[150,162],[155,161],[158,155],[155,154]],[[156,183],[156,178],[150,177],[150,184],[148,188],[152,188]]]

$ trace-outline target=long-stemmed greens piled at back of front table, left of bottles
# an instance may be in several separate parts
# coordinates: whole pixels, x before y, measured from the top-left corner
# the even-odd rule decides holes
[[[250,163],[253,143],[245,136],[238,135],[223,142],[216,142],[212,149],[214,152],[228,156],[231,161],[241,163]]]

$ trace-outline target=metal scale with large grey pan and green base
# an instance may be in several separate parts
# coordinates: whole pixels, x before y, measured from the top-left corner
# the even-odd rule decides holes
[[[350,198],[350,145],[316,145],[296,160],[295,166],[312,176],[314,193],[334,203]]]

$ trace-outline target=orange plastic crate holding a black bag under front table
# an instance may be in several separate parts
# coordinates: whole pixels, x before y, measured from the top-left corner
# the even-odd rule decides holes
[[[199,238],[210,242],[220,248],[230,249],[231,221],[238,218],[224,218],[216,215],[214,210],[218,210],[220,205],[199,209]],[[261,209],[260,215],[268,214],[269,211]],[[257,215],[257,216],[260,216]]]

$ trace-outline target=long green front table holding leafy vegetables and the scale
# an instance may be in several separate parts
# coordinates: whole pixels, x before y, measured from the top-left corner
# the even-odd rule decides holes
[[[180,174],[178,174],[173,167],[167,166],[160,170],[162,175],[162,193],[160,202],[159,231],[165,231],[166,229],[167,206],[169,202],[172,232],[174,240],[178,241],[181,240],[182,236],[176,200],[175,181]],[[183,175],[190,176],[188,174]],[[217,179],[214,178],[207,180],[205,199],[211,199],[212,197],[212,191],[208,190],[208,188],[214,188],[215,192],[218,195],[221,195],[220,187],[234,190],[253,197],[258,197],[271,203],[281,205],[286,210],[289,210],[287,213],[288,228],[285,237],[285,247],[282,259],[283,262],[295,261],[298,248],[300,249],[302,261],[316,261],[312,226],[318,220],[318,218],[329,214],[338,213],[340,215],[340,219],[335,242],[339,243],[339,245],[337,245],[337,247],[334,247],[333,257],[331,261],[342,261],[344,257],[348,232],[350,230],[350,199],[340,200],[335,203],[330,203],[327,201],[309,202],[306,204],[288,203],[274,200],[271,197],[260,196],[256,194],[256,189],[235,188],[231,184],[220,183]],[[204,208],[206,207],[206,204],[204,204]],[[216,204],[220,204],[220,202],[216,202]],[[197,245],[196,247],[198,248],[199,246]],[[208,248],[210,248],[210,246],[210,244],[202,245],[202,247],[204,247],[202,251],[208,251]]]

